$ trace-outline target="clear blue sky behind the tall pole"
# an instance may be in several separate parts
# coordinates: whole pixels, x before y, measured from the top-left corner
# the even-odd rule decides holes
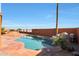
[[[2,3],[3,27],[55,28],[55,3]],[[59,28],[79,27],[79,4],[59,4]]]

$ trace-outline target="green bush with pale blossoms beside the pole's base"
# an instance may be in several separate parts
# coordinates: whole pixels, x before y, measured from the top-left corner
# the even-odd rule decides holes
[[[67,39],[68,34],[66,32],[57,34],[56,36],[53,36],[53,44],[61,46],[62,49],[67,48]]]

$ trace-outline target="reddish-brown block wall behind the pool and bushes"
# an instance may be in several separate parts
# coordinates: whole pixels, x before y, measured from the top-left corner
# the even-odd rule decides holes
[[[55,35],[55,32],[56,32],[55,29],[32,29],[32,32],[29,34],[51,37]],[[60,28],[59,33],[62,33],[62,32],[74,33],[77,36],[77,40],[79,44],[79,28]]]

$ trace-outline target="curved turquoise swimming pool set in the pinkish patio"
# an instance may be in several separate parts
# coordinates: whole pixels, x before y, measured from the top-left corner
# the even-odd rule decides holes
[[[31,36],[25,36],[17,39],[18,42],[23,42],[24,47],[32,50],[39,50],[42,48],[52,47],[48,43],[46,43],[46,40],[43,40],[41,38],[35,38]]]

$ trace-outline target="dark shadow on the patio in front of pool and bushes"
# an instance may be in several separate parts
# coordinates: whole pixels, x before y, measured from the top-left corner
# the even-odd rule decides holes
[[[53,48],[44,48],[37,56],[72,56],[71,52],[62,50],[59,46]]]

